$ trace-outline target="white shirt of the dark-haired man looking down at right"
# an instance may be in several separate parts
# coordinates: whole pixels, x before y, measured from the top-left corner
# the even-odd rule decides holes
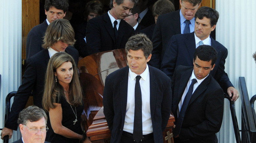
[[[208,75],[209,75],[209,74],[208,74]],[[207,75],[207,76],[208,76],[208,75]],[[206,76],[206,77],[207,77],[207,76]],[[197,83],[195,83],[195,84],[194,84],[194,87],[193,87],[193,92],[192,92],[192,94],[193,94],[194,91],[197,89],[197,87],[203,82],[203,80],[204,80],[206,77],[204,77],[203,79],[197,79],[196,76],[195,76],[195,74],[194,74],[194,70],[192,71],[192,74],[191,74],[191,76],[190,76],[190,78],[189,78],[189,80],[188,80],[188,82],[187,82],[187,86],[186,86],[186,88],[185,88],[185,90],[184,90],[184,92],[183,92],[183,94],[182,94],[181,101],[180,101],[179,106],[178,106],[178,109],[177,109],[177,116],[178,116],[178,117],[179,117],[179,113],[180,113],[180,111],[181,111],[181,107],[182,107],[183,101],[184,101],[184,99],[185,99],[185,97],[186,97],[188,88],[189,88],[190,84],[192,83],[192,80],[193,80],[193,79],[196,79],[196,80],[197,80]],[[193,96],[193,95],[192,95],[192,96]]]

